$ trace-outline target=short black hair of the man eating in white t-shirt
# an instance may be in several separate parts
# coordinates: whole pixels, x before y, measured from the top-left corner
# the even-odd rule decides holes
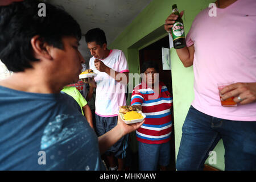
[[[102,47],[103,44],[107,43],[105,32],[100,28],[93,28],[85,34],[85,42],[96,42],[97,45]]]

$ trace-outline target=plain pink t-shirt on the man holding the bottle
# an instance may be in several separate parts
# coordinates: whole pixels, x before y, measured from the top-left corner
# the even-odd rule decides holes
[[[194,45],[195,100],[192,106],[213,117],[256,121],[256,102],[221,106],[218,83],[256,82],[256,1],[238,0],[217,16],[201,11],[187,35]]]

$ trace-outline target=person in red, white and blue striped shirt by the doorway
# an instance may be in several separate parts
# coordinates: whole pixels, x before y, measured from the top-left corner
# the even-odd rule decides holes
[[[131,105],[146,115],[143,125],[136,131],[139,142],[139,169],[162,170],[170,161],[170,139],[172,131],[172,97],[166,85],[158,81],[158,65],[146,61],[142,65],[142,83],[135,86]]]

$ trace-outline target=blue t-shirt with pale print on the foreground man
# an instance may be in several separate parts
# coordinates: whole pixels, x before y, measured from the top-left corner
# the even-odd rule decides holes
[[[0,86],[0,170],[105,170],[79,108],[65,93]]]

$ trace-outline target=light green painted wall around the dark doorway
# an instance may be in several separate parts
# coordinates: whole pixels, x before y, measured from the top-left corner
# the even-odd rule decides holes
[[[130,73],[139,73],[139,49],[168,35],[164,31],[163,24],[167,16],[171,13],[171,6],[176,3],[178,9],[185,10],[183,22],[185,33],[195,16],[205,7],[208,7],[212,0],[153,0],[142,12],[127,25],[125,30],[114,40],[109,48],[121,49],[129,63]],[[172,89],[174,98],[174,122],[175,122],[175,148],[176,156],[179,150],[182,135],[181,128],[187,115],[189,106],[194,98],[193,92],[193,68],[184,68],[176,54],[175,49],[171,49],[172,67]],[[130,104],[130,102],[127,102]],[[134,136],[134,134],[132,134]],[[134,142],[134,141],[133,141]],[[135,142],[134,142],[135,145]],[[133,148],[136,150],[136,147]],[[214,148],[217,154],[217,164],[210,166],[224,170],[224,147],[222,140]],[[208,163],[208,159],[206,161]]]

